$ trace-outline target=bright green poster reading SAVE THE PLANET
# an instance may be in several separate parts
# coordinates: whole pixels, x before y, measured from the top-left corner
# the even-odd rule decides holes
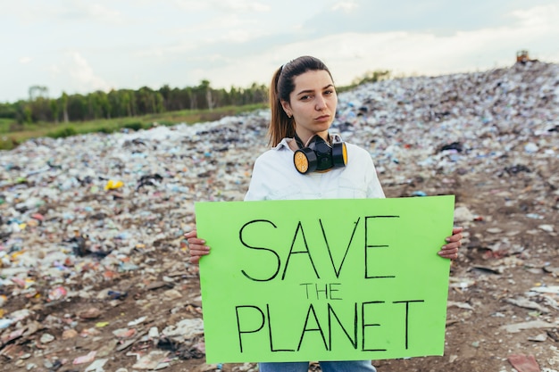
[[[196,203],[206,361],[442,355],[454,202]]]

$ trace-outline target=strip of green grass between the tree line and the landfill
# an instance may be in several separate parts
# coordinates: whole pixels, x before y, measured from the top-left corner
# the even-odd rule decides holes
[[[0,150],[12,150],[29,138],[50,136],[53,138],[75,136],[86,133],[113,133],[122,128],[133,130],[152,128],[157,125],[173,126],[179,123],[195,124],[205,121],[220,120],[226,116],[236,116],[245,112],[265,109],[265,103],[248,104],[245,106],[227,106],[209,110],[183,110],[165,112],[129,118],[71,121],[69,123],[34,123],[18,124],[13,120],[0,119]]]

